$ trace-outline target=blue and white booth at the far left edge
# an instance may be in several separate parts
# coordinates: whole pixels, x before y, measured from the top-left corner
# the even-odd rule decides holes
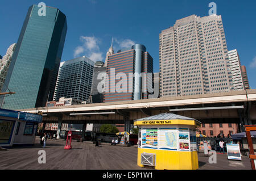
[[[0,109],[0,146],[33,145],[42,116]]]

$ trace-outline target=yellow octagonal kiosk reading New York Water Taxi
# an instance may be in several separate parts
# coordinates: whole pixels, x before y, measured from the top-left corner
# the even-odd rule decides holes
[[[195,119],[161,113],[134,121],[139,127],[138,166],[158,170],[196,170],[199,168],[196,149]]]

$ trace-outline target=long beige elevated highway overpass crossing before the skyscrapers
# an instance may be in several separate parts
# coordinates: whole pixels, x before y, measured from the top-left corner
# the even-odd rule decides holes
[[[41,111],[44,123],[125,124],[127,131],[129,131],[133,120],[165,112],[193,117],[201,123],[237,123],[242,126],[256,124],[256,90],[63,107],[40,107],[19,111],[31,113]]]

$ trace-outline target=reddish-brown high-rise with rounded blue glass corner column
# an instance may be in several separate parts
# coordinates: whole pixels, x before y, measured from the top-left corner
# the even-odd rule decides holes
[[[143,88],[146,89],[150,81],[152,83],[153,58],[146,52],[144,45],[135,44],[131,48],[119,50],[117,53],[109,55],[107,62],[108,78],[105,82],[104,102],[148,99],[148,92],[152,91],[144,91]],[[144,79],[144,77],[140,77],[141,73],[151,73],[151,76],[147,74],[149,76]],[[117,76],[124,74],[126,79]],[[115,87],[121,79],[126,82],[126,86],[120,85],[122,91],[117,91]]]

